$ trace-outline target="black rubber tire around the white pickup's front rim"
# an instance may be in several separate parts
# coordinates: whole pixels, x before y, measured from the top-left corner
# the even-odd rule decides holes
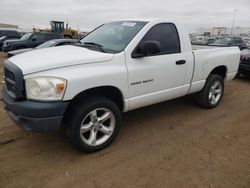
[[[89,117],[88,115],[90,114],[90,112],[92,112],[95,109],[108,109],[109,111],[111,111],[113,113],[112,120],[115,119],[115,123],[113,123],[115,124],[115,126],[108,140],[106,140],[104,143],[100,145],[91,146],[89,144],[86,144],[85,143],[86,141],[83,140],[82,136],[85,133],[83,133],[82,135],[80,134],[80,127],[84,119]],[[105,97],[92,97],[87,100],[81,101],[77,103],[68,113],[70,114],[67,114],[68,118],[66,122],[69,127],[70,140],[80,151],[86,153],[96,152],[109,146],[117,136],[121,127],[121,112],[118,106],[113,101]],[[90,131],[92,131],[92,129]],[[95,131],[97,132],[97,129],[95,129]],[[91,132],[89,133],[89,139],[90,135]]]

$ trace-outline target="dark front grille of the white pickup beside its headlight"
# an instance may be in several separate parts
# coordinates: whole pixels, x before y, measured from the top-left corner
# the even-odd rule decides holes
[[[22,70],[10,61],[4,62],[4,77],[8,94],[15,100],[24,98]]]

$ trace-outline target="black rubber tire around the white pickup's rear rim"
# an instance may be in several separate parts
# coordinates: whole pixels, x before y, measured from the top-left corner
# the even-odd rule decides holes
[[[209,98],[210,94],[209,93],[210,93],[210,89],[212,88],[213,84],[217,81],[221,84],[221,95],[218,97],[216,102],[213,103],[210,101],[210,98]],[[206,108],[206,109],[215,108],[220,103],[220,101],[223,97],[223,94],[224,94],[224,80],[223,80],[223,78],[219,75],[211,74],[208,76],[204,88],[200,92],[197,93],[196,101],[203,108]]]

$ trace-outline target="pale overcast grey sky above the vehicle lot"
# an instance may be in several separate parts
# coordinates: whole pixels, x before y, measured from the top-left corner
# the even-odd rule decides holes
[[[65,21],[90,31],[102,23],[131,18],[172,18],[197,28],[250,27],[250,0],[0,0],[0,23],[49,28]]]

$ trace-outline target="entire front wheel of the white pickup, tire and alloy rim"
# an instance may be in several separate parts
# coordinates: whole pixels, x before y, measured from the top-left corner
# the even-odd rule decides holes
[[[106,148],[121,126],[121,112],[111,100],[102,97],[81,102],[70,112],[70,138],[84,152]]]

